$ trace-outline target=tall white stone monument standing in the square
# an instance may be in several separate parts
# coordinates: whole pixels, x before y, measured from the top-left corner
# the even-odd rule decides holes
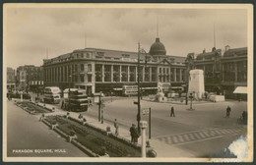
[[[203,70],[191,70],[189,72],[188,93],[194,93],[195,98],[202,98],[205,93],[205,81]]]

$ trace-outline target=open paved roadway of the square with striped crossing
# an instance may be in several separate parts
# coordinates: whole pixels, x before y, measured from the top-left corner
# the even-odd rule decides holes
[[[112,102],[106,97],[102,99],[105,100],[105,121],[116,118],[127,132],[132,123],[137,124],[137,105],[133,104],[136,97],[113,99]],[[227,105],[232,109],[230,118],[224,118]],[[170,106],[174,106],[175,117],[169,117]],[[247,109],[247,102],[198,102],[193,105],[195,110],[189,111],[189,105],[142,101],[142,109],[149,107],[152,108],[152,138],[188,150],[198,157],[210,157],[223,151],[247,131],[246,126],[236,122],[242,111]],[[83,115],[97,119],[97,108],[95,104]],[[148,120],[148,116],[142,116],[142,120]]]

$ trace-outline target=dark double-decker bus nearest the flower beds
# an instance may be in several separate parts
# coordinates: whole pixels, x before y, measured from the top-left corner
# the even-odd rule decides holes
[[[84,112],[88,110],[89,100],[87,96],[87,90],[80,88],[66,88],[63,93],[63,109],[76,112]]]

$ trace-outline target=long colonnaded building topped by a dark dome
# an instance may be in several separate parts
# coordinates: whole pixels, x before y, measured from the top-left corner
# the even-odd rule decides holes
[[[164,92],[182,89],[185,84],[185,57],[166,55],[165,47],[156,39],[149,54],[140,54],[140,81],[147,93],[156,93],[158,83]],[[85,48],[43,60],[45,85],[61,89],[85,88],[88,94],[114,91],[121,94],[124,85],[137,84],[138,52]]]

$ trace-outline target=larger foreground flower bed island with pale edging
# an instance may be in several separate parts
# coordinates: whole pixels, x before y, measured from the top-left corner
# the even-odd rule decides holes
[[[131,143],[83,120],[56,115],[46,116],[43,123],[93,157],[102,156],[102,147],[110,157],[141,157],[141,145]]]

